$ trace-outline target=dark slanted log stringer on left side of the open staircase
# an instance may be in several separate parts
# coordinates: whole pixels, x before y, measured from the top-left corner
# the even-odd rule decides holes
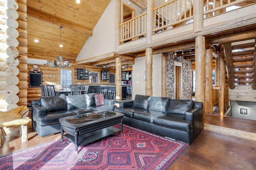
[[[235,85],[235,76],[234,76],[232,46],[231,46],[231,43],[223,44],[223,46],[224,46],[224,54],[225,54],[226,72],[228,76],[228,87],[230,89],[234,89],[236,85]]]

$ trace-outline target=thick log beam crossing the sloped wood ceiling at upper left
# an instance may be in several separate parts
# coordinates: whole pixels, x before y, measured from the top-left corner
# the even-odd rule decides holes
[[[79,32],[79,33],[82,33],[82,34],[92,36],[92,31],[90,31],[88,29],[84,29],[84,28],[82,28],[78,25],[73,25],[73,24],[70,24],[70,23],[67,23],[67,22],[64,22],[64,21],[60,21],[57,18],[53,18],[51,16],[47,16],[45,14],[35,12],[35,11],[29,10],[29,9],[27,10],[27,14],[28,14],[28,16],[36,18],[40,21],[44,21],[44,22],[50,23],[50,24],[55,25],[55,26],[56,25],[62,26],[64,29],[71,29],[73,31],[76,31],[76,32]]]

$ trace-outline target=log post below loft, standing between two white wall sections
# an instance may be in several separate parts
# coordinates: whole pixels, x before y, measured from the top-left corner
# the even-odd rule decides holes
[[[152,91],[152,48],[147,48],[146,49],[146,82],[145,82],[145,92],[146,95],[152,96],[153,91]]]

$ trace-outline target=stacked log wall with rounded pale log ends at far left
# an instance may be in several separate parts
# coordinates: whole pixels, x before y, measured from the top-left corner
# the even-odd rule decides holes
[[[26,0],[1,3],[0,109],[27,105]],[[7,36],[5,36],[7,35]]]

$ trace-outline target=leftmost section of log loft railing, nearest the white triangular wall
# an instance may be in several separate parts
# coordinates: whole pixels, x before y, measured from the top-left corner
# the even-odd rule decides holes
[[[133,38],[140,37],[146,34],[146,16],[147,13],[140,14],[135,18],[121,23],[120,26],[120,41],[130,41]]]

